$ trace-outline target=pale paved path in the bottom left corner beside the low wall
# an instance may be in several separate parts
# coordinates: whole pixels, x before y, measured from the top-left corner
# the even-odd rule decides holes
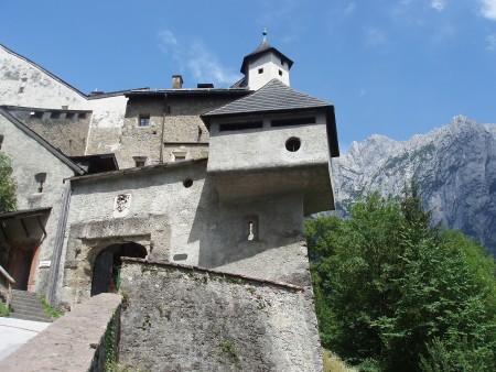
[[[14,352],[51,322],[0,317],[0,360]]]

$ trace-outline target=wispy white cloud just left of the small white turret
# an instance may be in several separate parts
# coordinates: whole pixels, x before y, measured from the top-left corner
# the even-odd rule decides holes
[[[169,30],[159,32],[157,37],[159,39],[159,48],[171,57],[181,74],[190,74],[195,83],[233,85],[240,79],[238,74],[224,67],[218,57],[209,52],[201,41],[180,44]]]

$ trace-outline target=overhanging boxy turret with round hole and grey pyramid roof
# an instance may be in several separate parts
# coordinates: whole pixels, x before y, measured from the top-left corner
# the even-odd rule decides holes
[[[220,201],[295,193],[305,215],[334,209],[331,158],[339,155],[334,107],[272,79],[202,116],[207,174]]]

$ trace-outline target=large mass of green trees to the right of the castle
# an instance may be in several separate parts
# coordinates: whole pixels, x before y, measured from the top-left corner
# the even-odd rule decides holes
[[[306,221],[326,349],[363,370],[493,370],[494,259],[430,218],[412,185],[402,198],[368,195],[348,220]]]

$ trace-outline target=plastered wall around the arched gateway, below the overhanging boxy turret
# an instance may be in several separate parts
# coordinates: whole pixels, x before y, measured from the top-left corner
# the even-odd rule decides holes
[[[121,194],[131,195],[129,210],[115,217]],[[310,286],[302,203],[299,193],[222,204],[206,161],[73,182],[60,299],[89,297],[97,253],[119,241],[143,245],[153,260]]]

